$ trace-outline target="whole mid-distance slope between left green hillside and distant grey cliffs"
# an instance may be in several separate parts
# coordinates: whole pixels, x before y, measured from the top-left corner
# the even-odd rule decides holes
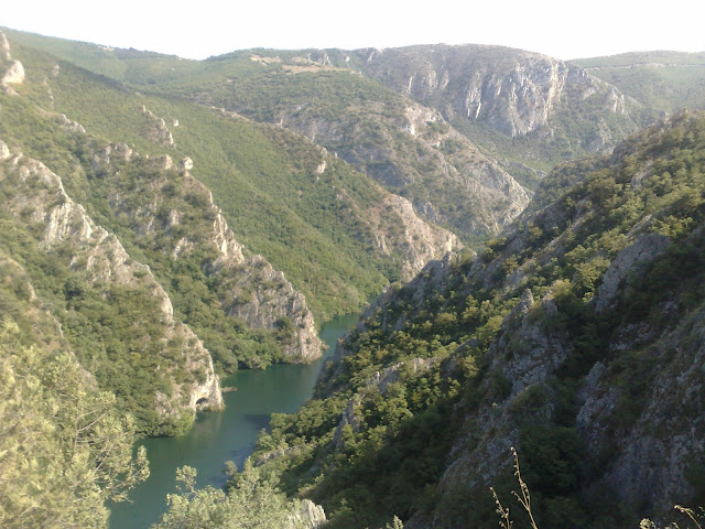
[[[466,240],[497,234],[528,203],[521,185],[437,111],[330,65],[327,54],[241,52],[219,62],[243,58],[260,71],[223,76],[187,97],[304,134]]]

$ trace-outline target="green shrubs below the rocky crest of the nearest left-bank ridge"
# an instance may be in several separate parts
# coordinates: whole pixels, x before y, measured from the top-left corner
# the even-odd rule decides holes
[[[124,281],[109,280],[110,274],[94,277],[88,259],[112,259],[113,239],[106,239],[93,256],[70,239],[51,247],[42,244],[45,225],[23,218],[24,209],[14,213],[20,204],[28,204],[31,217],[35,207],[45,207],[43,199],[52,205],[51,201],[63,198],[57,186],[45,186],[40,177],[22,181],[18,176],[22,169],[3,168],[0,252],[24,268],[34,294],[61,323],[78,361],[96,377],[100,389],[115,393],[121,409],[134,417],[140,432],[183,432],[191,424],[191,411],[165,421],[154,409],[155,395],[171,396],[174,384],[191,384],[203,374],[186,366],[178,334],[167,335],[162,301],[153,295],[156,284],[137,274],[143,268],[128,268],[135,276]],[[30,196],[36,199],[33,206],[26,201]]]

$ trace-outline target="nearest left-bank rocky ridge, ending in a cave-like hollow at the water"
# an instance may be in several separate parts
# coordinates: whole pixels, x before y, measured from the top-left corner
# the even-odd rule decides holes
[[[3,246],[32,267],[40,295],[56,303],[55,317],[101,388],[151,434],[180,432],[196,408],[220,407],[210,355],[174,320],[149,267],[97,226],[56,174],[2,147]]]

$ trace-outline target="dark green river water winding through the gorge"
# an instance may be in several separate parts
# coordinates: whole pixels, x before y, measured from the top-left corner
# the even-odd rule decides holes
[[[273,412],[293,413],[311,397],[318,371],[335,344],[357,321],[351,314],[337,317],[321,330],[328,346],[324,358],[307,366],[276,365],[265,370],[238,371],[223,386],[237,391],[223,393],[226,409],[199,413],[183,438],[145,439],[150,477],[130,494],[131,503],[111,507],[111,529],[148,529],[166,508],[166,494],[175,492],[175,472],[183,465],[198,471],[198,485],[225,484],[223,464],[230,460],[242,467],[252,452],[257,433],[269,424]]]

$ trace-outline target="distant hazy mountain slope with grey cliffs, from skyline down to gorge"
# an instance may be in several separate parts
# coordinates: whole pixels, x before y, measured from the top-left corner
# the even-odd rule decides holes
[[[643,109],[571,63],[500,46],[360,50],[362,71],[434,108],[532,187],[556,162],[609,149]]]

